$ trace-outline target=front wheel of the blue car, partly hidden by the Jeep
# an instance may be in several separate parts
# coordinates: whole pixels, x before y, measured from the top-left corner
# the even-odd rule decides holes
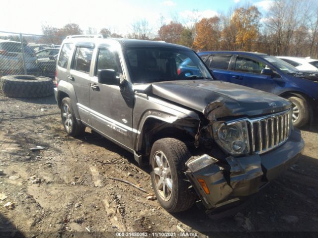
[[[293,104],[293,125],[295,127],[302,127],[308,123],[310,119],[309,106],[304,99],[296,96],[287,98]],[[298,109],[297,111],[294,109]],[[299,113],[296,113],[298,112]]]

